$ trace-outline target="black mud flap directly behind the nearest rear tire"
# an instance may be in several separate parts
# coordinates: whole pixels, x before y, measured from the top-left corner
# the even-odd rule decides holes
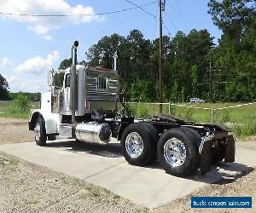
[[[206,141],[201,151],[200,170],[201,176],[212,169],[212,140]]]

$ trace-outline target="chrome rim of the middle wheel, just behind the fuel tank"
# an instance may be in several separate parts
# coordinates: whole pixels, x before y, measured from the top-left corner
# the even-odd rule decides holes
[[[137,132],[131,132],[125,140],[126,152],[131,158],[138,158],[143,153],[143,139]]]

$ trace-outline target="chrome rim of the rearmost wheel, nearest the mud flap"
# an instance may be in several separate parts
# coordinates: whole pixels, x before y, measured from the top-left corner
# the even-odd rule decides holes
[[[183,142],[173,137],[166,141],[164,157],[172,167],[181,166],[186,160],[186,147]]]

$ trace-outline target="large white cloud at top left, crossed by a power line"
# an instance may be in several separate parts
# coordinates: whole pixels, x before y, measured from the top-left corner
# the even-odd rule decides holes
[[[75,7],[65,0],[0,0],[0,9],[5,13],[13,14],[92,14],[75,17],[35,17],[35,16],[8,16],[8,18],[26,22],[29,29],[39,35],[47,35],[50,31],[60,29],[67,24],[81,24],[94,20],[102,20],[99,15],[93,15],[92,7],[78,4]]]

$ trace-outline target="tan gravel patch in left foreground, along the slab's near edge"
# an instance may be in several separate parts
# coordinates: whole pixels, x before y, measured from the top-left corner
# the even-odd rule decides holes
[[[142,212],[108,190],[0,157],[0,212]]]

